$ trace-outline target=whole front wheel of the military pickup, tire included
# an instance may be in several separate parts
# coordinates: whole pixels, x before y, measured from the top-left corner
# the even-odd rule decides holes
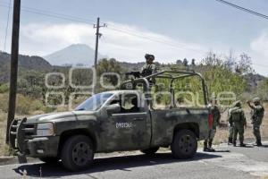
[[[85,135],[76,135],[65,141],[61,155],[63,166],[71,171],[80,171],[93,163],[92,141]]]

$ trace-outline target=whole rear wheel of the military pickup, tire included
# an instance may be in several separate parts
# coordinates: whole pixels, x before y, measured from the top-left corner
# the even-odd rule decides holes
[[[174,158],[193,158],[197,153],[197,136],[189,130],[176,132],[172,141]]]

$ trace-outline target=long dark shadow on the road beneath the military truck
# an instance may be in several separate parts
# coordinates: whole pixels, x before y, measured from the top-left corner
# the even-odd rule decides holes
[[[187,160],[178,160],[172,158],[171,153],[156,153],[153,156],[147,155],[137,155],[137,156],[124,156],[124,157],[112,157],[112,158],[96,158],[94,164],[90,169],[83,172],[69,172],[66,171],[62,164],[55,163],[48,165],[45,163],[40,164],[27,164],[14,168],[13,170],[21,175],[21,171],[26,170],[27,175],[31,177],[40,177],[40,168],[42,177],[61,177],[66,175],[88,175],[97,172],[105,172],[110,170],[124,170],[131,171],[132,167],[140,166],[155,166],[161,164],[175,163],[175,162],[188,162],[195,161],[199,159],[209,159],[209,158],[221,158],[221,156],[211,154],[211,153],[197,153],[195,158]]]

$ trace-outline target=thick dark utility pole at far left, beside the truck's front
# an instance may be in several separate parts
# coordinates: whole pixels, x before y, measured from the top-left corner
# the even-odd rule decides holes
[[[7,116],[7,125],[6,125],[6,137],[5,137],[6,144],[9,144],[9,128],[13,122],[15,109],[16,109],[19,38],[20,38],[20,16],[21,16],[21,0],[14,0],[10,89],[9,89],[9,104],[8,104],[8,116]]]

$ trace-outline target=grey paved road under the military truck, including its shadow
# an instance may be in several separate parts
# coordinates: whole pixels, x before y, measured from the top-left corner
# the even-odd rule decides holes
[[[63,169],[61,163],[44,163],[0,166],[0,178],[21,178],[23,170],[26,178],[39,178],[41,168],[43,178],[265,178],[268,176],[268,142],[257,148],[233,148],[226,144],[217,147],[217,152],[198,151],[196,158],[176,160],[170,152],[155,156],[132,154],[113,158],[96,158],[88,171],[71,173]],[[267,177],[268,178],[268,177]]]

